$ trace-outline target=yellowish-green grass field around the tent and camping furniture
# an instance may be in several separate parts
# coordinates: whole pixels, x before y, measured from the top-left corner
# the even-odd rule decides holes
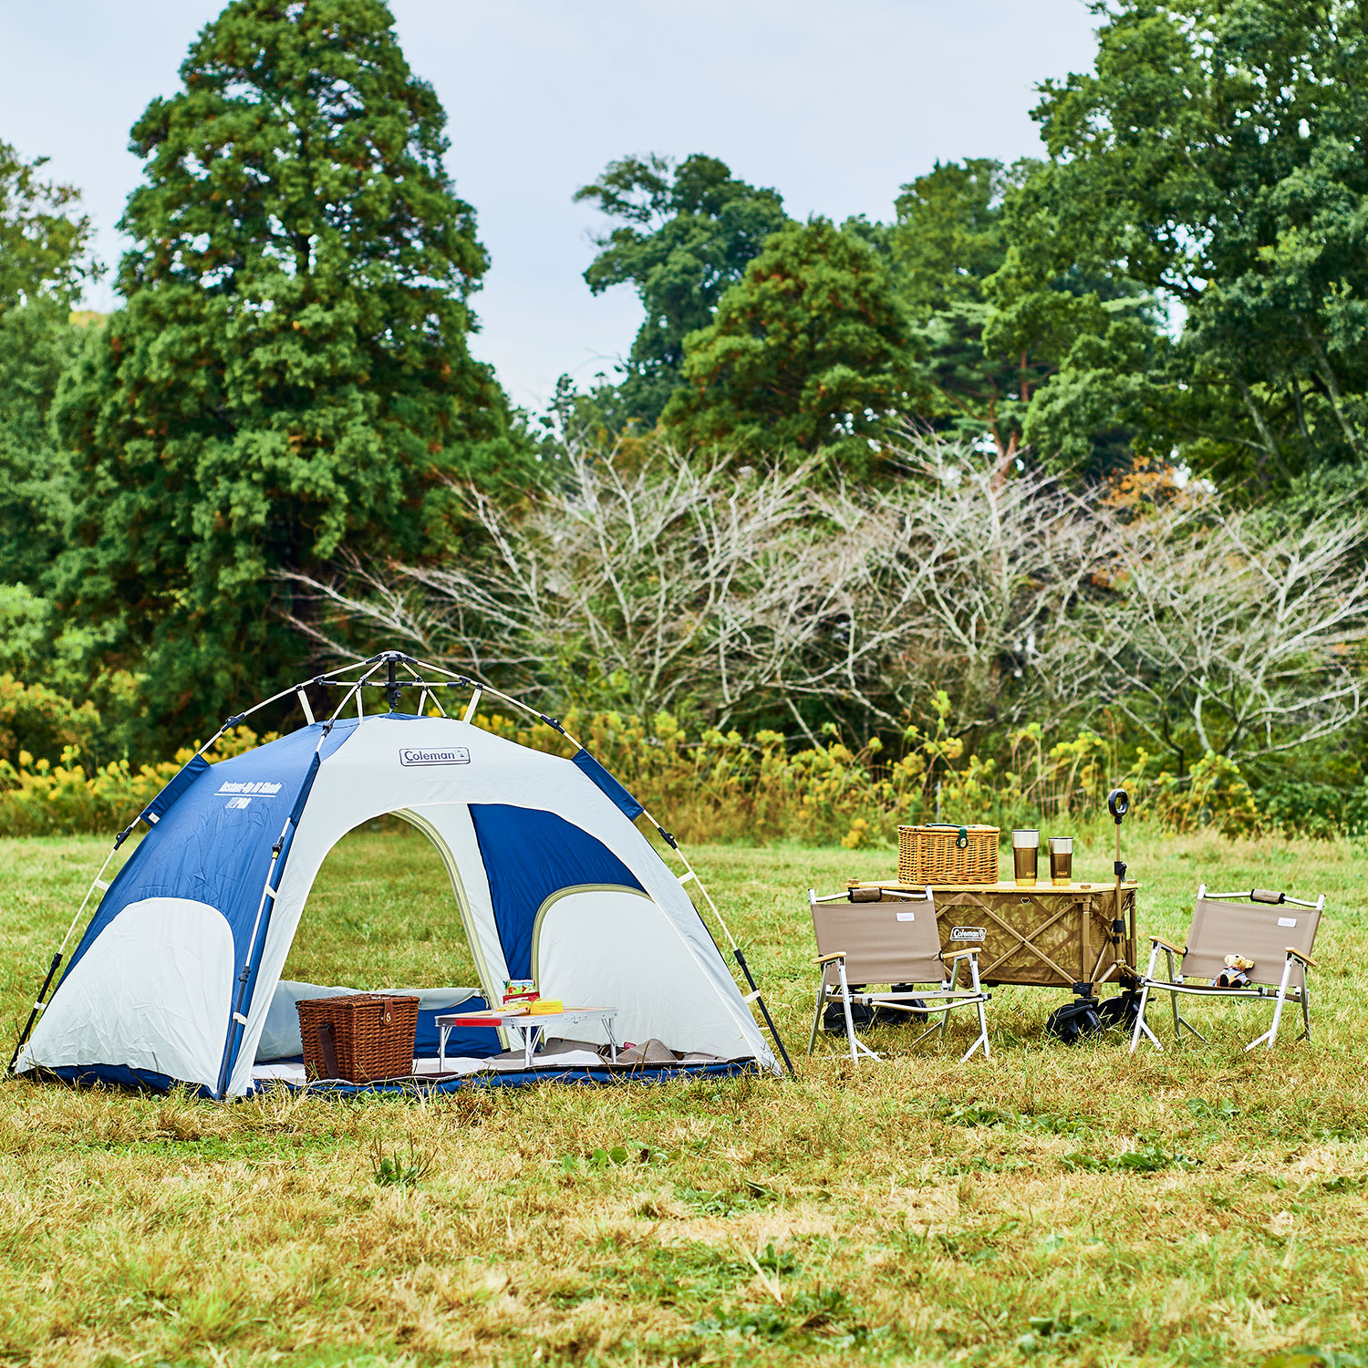
[[[0,841],[5,1057],[104,848]],[[803,891],[891,852],[692,854],[800,1051]],[[1200,1004],[1209,1045],[1068,1051],[1060,995],[1000,989],[986,1064],[956,1063],[962,1021],[859,1073],[826,1044],[796,1079],[427,1104],[4,1082],[0,1361],[1368,1363],[1368,850],[1140,832],[1127,858],[1142,933],[1181,936],[1201,880],[1328,893],[1315,1041],[1248,1056],[1267,1011]],[[472,981],[424,839],[338,847],[287,974]],[[379,1185],[376,1146],[430,1168]]]

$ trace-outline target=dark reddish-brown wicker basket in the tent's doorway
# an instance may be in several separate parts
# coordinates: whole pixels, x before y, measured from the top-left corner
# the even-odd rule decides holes
[[[305,997],[294,1004],[304,1038],[304,1071],[312,1078],[369,1083],[413,1073],[419,1000],[389,993]]]

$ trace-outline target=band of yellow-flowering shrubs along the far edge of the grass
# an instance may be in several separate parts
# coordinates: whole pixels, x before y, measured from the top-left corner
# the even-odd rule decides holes
[[[907,728],[902,755],[886,758],[878,739],[844,740],[834,725],[791,747],[778,732],[706,729],[688,735],[669,713],[650,721],[621,713],[569,711],[564,726],[674,834],[685,841],[799,840],[847,850],[891,844],[903,822],[988,822],[1004,832],[1068,817],[1075,825],[1105,819],[1107,791],[1120,766],[1111,743],[1094,732],[1047,744],[1037,725],[1011,737],[1011,766],[966,752],[947,729],[948,702],[937,699],[930,729]],[[476,724],[535,750],[569,757],[575,746],[544,722],[486,711]],[[238,755],[265,737],[239,726],[219,740],[213,761]],[[126,761],[92,772],[68,747],[53,765],[23,752],[0,761],[0,834],[47,836],[115,832],[126,826],[185,765],[134,769]],[[1209,826],[1228,836],[1293,824],[1263,814],[1239,766],[1209,754],[1186,778],[1150,774],[1141,751],[1122,774],[1138,818],[1174,830]],[[1368,788],[1354,813],[1368,810]],[[1368,811],[1360,814],[1368,817]]]

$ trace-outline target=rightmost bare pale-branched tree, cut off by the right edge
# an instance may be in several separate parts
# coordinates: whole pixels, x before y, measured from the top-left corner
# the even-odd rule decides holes
[[[1120,591],[1079,629],[1109,661],[1105,694],[1186,762],[1250,761],[1328,736],[1364,706],[1368,524],[1179,503],[1124,529]]]

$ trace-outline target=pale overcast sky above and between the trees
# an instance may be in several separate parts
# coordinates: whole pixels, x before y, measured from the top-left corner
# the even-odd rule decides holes
[[[140,175],[133,120],[178,89],[216,0],[0,0],[0,140],[78,185],[98,252]],[[1092,63],[1082,0],[393,0],[450,118],[449,167],[492,257],[477,356],[516,404],[609,371],[635,295],[580,278],[599,222],[570,204],[631,152],[706,152],[788,212],[886,219],[937,160],[1038,150],[1034,86]],[[108,285],[88,301],[115,302]]]

